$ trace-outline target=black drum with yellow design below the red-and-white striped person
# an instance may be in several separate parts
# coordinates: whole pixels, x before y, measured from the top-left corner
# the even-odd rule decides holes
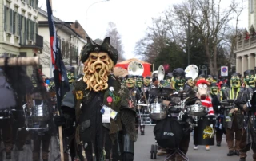
[[[203,116],[194,127],[194,145],[214,145],[215,116]]]

